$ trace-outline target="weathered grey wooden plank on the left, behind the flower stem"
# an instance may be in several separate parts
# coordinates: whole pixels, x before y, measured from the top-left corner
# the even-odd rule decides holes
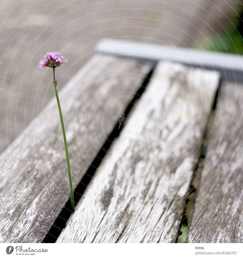
[[[135,59],[95,55],[60,92],[74,189],[148,73]],[[55,98],[0,164],[0,242],[41,242],[70,196]]]

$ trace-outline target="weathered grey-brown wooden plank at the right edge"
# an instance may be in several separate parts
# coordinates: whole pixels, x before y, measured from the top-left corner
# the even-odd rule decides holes
[[[203,163],[189,243],[243,242],[243,91],[223,84]],[[210,133],[211,131],[211,133]]]

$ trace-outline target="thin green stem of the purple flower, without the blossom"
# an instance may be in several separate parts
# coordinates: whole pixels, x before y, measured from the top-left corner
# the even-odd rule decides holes
[[[70,162],[69,162],[69,155],[68,155],[68,149],[67,149],[67,139],[66,139],[66,133],[65,133],[65,127],[64,127],[64,122],[63,122],[63,115],[62,115],[62,110],[61,110],[61,105],[57,93],[57,82],[55,78],[55,67],[53,67],[53,84],[55,87],[55,94],[56,94],[56,101],[59,109],[59,114],[60,114],[60,120],[61,120],[61,125],[62,125],[62,130],[63,130],[63,140],[64,140],[64,145],[65,145],[65,151],[66,151],[66,158],[67,158],[67,169],[68,169],[68,177],[69,177],[69,183],[70,183],[70,196],[71,196],[71,205],[72,209],[74,212],[74,190],[73,190],[73,183],[72,183],[72,175],[71,175],[71,170],[70,170]]]

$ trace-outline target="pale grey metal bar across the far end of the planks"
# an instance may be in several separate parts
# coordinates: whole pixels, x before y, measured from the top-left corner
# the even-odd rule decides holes
[[[229,53],[196,50],[170,45],[158,45],[126,40],[102,40],[96,50],[108,53],[154,60],[173,60],[201,67],[243,71],[243,56]]]

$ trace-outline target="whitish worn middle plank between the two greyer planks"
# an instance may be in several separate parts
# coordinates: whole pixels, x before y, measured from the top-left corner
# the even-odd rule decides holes
[[[58,243],[176,241],[217,79],[159,64]]]

